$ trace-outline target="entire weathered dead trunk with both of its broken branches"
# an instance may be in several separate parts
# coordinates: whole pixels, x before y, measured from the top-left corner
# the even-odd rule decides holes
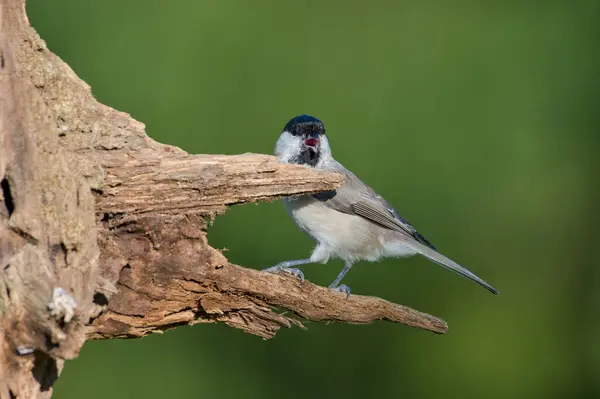
[[[0,398],[49,397],[86,338],[206,322],[270,338],[303,319],[447,330],[382,299],[227,262],[206,234],[227,206],[342,177],[153,141],[48,51],[24,0],[0,0],[0,182]]]

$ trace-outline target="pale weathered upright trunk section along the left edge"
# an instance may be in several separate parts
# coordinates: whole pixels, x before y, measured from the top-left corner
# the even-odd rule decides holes
[[[43,397],[100,311],[94,200],[24,70],[24,4],[0,6],[0,396]]]

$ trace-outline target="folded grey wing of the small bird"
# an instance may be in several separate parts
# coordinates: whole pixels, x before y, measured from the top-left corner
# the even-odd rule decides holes
[[[336,211],[361,216],[383,228],[404,233],[435,250],[435,247],[375,190],[345,168],[336,172],[342,172],[346,176],[344,185],[337,190],[314,194],[315,199]]]

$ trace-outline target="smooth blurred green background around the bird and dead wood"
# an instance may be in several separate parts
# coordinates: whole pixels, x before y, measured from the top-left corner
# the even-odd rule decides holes
[[[192,153],[271,153],[286,121],[496,286],[423,258],[344,282],[450,333],[309,323],[264,341],[222,325],[90,342],[56,398],[598,398],[600,2],[30,0],[50,49],[102,102]],[[258,227],[258,231],[256,231]],[[313,243],[280,203],[210,243],[263,268]],[[304,267],[328,284],[342,264]]]

